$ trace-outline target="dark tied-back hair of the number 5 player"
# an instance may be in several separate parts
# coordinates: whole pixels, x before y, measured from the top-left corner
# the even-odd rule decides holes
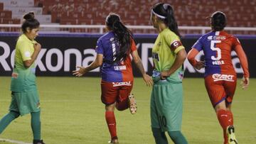
[[[212,16],[210,16],[210,25],[213,31],[222,31],[227,25],[227,18],[225,13],[221,11],[215,11]]]

